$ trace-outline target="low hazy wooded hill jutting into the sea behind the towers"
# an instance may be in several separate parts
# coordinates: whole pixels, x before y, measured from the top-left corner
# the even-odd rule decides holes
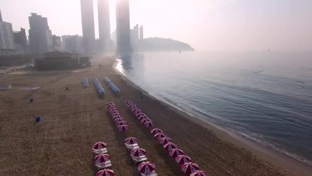
[[[194,51],[189,44],[165,38],[146,38],[136,42],[133,51]]]

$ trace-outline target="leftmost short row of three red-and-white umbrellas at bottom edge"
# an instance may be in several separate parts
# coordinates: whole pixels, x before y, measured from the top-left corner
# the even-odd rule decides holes
[[[96,154],[94,157],[95,166],[100,169],[96,173],[96,176],[114,176],[113,170],[109,169],[111,167],[110,155],[107,154],[106,143],[97,142],[92,146],[93,152]]]

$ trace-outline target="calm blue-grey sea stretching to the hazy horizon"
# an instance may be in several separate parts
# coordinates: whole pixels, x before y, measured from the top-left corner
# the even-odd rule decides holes
[[[151,95],[312,165],[312,52],[151,52],[118,61]]]

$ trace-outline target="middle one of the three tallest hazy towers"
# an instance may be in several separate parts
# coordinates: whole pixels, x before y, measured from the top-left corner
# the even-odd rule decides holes
[[[100,49],[103,51],[107,51],[107,44],[110,42],[110,19],[108,0],[97,0],[97,13],[99,15]]]

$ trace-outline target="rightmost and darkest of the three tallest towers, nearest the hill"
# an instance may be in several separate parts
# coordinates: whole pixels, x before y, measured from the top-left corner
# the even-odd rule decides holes
[[[129,0],[116,2],[116,30],[117,52],[120,54],[131,52]]]

